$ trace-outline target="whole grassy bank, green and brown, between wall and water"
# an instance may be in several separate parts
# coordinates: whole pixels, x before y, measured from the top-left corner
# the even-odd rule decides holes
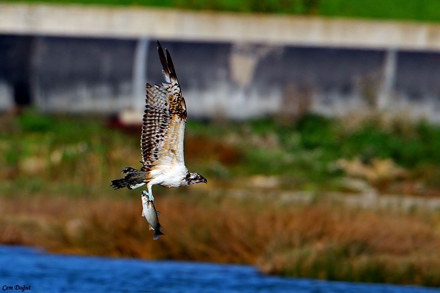
[[[0,117],[0,243],[440,286],[438,210],[327,196],[437,198],[439,126],[380,113],[189,121],[186,163],[209,184],[154,187],[166,236],[153,241],[140,191],[110,188],[122,168],[139,167],[140,128],[108,124],[32,111]]]

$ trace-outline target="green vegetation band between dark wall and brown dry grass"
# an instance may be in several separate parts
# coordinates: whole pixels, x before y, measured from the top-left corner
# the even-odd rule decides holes
[[[0,164],[4,166],[0,180],[11,179],[10,186],[23,180],[32,183],[23,186],[25,194],[42,191],[45,183],[50,183],[54,193],[70,185],[74,188],[66,192],[74,197],[84,190],[92,194],[108,188],[122,168],[139,167],[140,128],[119,131],[106,127],[104,117],[34,111],[9,120],[3,125],[14,126],[0,134]],[[186,163],[190,170],[214,180],[263,174],[279,176],[285,188],[327,191],[339,190],[338,182],[347,176],[345,169],[336,166],[341,158],[358,159],[366,167],[375,160],[390,159],[408,171],[405,180],[440,189],[439,126],[399,121],[383,125],[380,117],[354,127],[346,124],[312,114],[289,123],[274,118],[192,120],[187,124]],[[400,180],[390,178],[386,181]],[[9,185],[3,185],[3,191],[9,192]]]

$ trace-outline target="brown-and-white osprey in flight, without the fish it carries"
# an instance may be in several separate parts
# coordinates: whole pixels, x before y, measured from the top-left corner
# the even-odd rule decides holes
[[[134,189],[147,185],[148,194],[153,197],[155,184],[165,187],[179,187],[207,180],[198,173],[189,172],[183,157],[183,137],[186,124],[186,105],[177,81],[171,55],[166,58],[160,42],[157,41],[160,63],[165,83],[148,84],[145,114],[142,124],[141,150],[142,168],[126,167],[122,179],[111,181],[114,189]]]

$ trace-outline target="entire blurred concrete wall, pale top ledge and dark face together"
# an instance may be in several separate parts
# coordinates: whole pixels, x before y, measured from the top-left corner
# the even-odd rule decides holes
[[[376,107],[440,122],[438,32],[404,22],[0,4],[0,108],[28,101],[44,111],[141,112],[144,83],[162,80],[159,38],[192,117]]]

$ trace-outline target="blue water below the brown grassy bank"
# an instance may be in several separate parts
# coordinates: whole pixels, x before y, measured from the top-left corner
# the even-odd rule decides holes
[[[433,293],[439,289],[263,275],[253,267],[179,261],[47,254],[0,246],[2,286],[30,286],[36,292],[276,292]],[[21,292],[1,291],[1,292]]]

